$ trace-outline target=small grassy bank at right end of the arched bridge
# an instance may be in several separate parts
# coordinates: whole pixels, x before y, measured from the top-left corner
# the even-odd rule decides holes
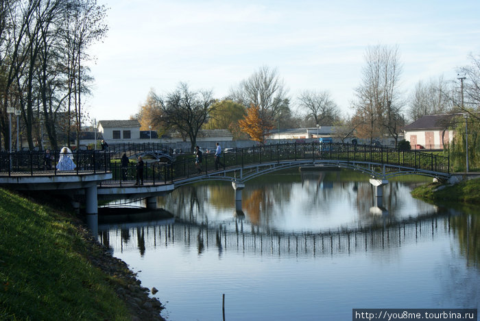
[[[414,198],[430,202],[462,202],[480,204],[480,178],[466,180],[455,185],[430,183],[413,189]]]

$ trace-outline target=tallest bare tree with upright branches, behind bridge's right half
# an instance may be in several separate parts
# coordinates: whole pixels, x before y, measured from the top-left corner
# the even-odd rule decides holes
[[[399,89],[402,67],[398,46],[368,47],[365,62],[353,104],[355,118],[361,124],[357,132],[360,137],[369,138],[370,142],[385,133],[397,137],[400,109],[403,106]]]

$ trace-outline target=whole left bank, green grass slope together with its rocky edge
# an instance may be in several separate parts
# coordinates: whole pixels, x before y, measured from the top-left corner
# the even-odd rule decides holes
[[[165,320],[69,200],[0,189],[0,319]]]

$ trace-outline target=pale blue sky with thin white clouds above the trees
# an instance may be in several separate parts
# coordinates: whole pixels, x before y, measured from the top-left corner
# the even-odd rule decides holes
[[[293,110],[302,91],[328,91],[348,115],[369,46],[398,46],[406,98],[419,81],[456,80],[480,54],[478,0],[97,1],[109,27],[88,62],[85,106],[97,121],[128,119],[149,91],[180,82],[221,99],[263,66],[278,71]]]

